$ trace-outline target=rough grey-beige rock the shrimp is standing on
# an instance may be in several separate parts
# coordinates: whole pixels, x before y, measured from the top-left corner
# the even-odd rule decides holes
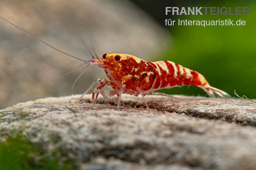
[[[124,96],[122,107],[86,95],[45,98],[0,110],[1,140],[19,130],[58,162],[81,169],[254,169],[256,104],[176,96],[195,103]],[[247,125],[247,126],[244,126]],[[16,130],[16,131],[15,131]],[[76,165],[76,166],[75,166]]]

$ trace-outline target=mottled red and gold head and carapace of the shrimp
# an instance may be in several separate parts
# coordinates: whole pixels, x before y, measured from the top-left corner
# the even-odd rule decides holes
[[[110,81],[117,86],[125,84],[135,89],[143,81],[149,80],[146,77],[154,74],[154,68],[147,61],[130,54],[108,53],[103,54],[102,58],[98,61],[99,66],[104,68]]]

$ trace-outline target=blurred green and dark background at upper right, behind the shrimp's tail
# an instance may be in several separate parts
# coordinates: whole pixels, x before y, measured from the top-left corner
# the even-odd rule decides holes
[[[164,26],[165,18],[176,20],[164,26],[172,34],[172,43],[155,60],[171,60],[203,74],[211,86],[234,95],[256,98],[256,14],[255,1],[144,1],[134,0]],[[146,3],[147,2],[147,3]],[[165,15],[165,7],[249,7],[249,15]],[[178,26],[178,19],[241,19],[244,26]],[[160,90],[169,94],[206,96],[195,86]]]

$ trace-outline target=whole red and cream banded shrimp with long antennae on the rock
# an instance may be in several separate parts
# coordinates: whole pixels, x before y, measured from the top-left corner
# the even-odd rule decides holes
[[[22,32],[27,33],[29,36],[39,40],[40,42],[44,43],[45,45],[53,48],[54,50],[63,53],[69,57],[75,58],[76,60],[83,61],[84,63],[80,66],[76,67],[72,71],[68,72],[67,74],[73,72],[77,68],[88,64],[83,72],[78,76],[76,81],[81,77],[81,75],[85,72],[85,70],[90,66],[97,66],[103,68],[109,80],[104,78],[98,78],[97,80],[93,81],[92,85],[87,89],[84,94],[78,99],[77,103],[83,98],[83,96],[91,90],[95,84],[98,82],[99,86],[94,88],[92,92],[92,102],[96,103],[98,95],[101,94],[106,101],[109,101],[112,96],[117,96],[114,99],[114,103],[117,104],[117,109],[120,108],[121,103],[121,96],[123,93],[138,96],[141,95],[146,107],[149,109],[148,104],[144,98],[144,96],[148,95],[161,95],[170,97],[173,99],[178,99],[172,95],[167,95],[160,92],[153,92],[158,89],[166,89],[172,88],[177,86],[183,85],[196,85],[202,88],[209,96],[218,95],[220,97],[228,97],[229,94],[220,90],[216,89],[206,81],[204,76],[194,70],[190,70],[186,67],[182,67],[179,64],[175,64],[172,61],[156,61],[156,62],[147,62],[143,59],[140,59],[134,55],[125,54],[125,53],[105,53],[102,55],[102,59],[99,59],[95,50],[93,51],[96,55],[94,57],[92,53],[88,50],[87,46],[84,46],[88,50],[89,54],[91,55],[93,60],[82,60],[78,57],[65,53],[50,44],[44,42],[43,40],[37,38],[36,36],[32,35],[31,33],[21,29],[20,27],[12,24],[10,21],[0,17],[4,21],[8,22],[9,24],[15,26]],[[76,30],[77,32],[77,30]],[[78,34],[78,32],[77,32]],[[79,34],[78,34],[79,35]],[[92,43],[92,40],[91,40]],[[93,45],[92,45],[93,47]],[[65,75],[67,75],[65,74]],[[63,75],[63,76],[65,76]],[[61,76],[61,77],[63,77]],[[60,77],[60,78],[61,78]],[[57,80],[59,80],[58,78]],[[55,81],[57,81],[55,80]],[[54,81],[54,82],[55,82]],[[74,82],[72,89],[76,83]],[[107,92],[105,87],[110,87],[112,90]],[[181,100],[184,101],[184,100]],[[188,101],[184,101],[188,102]],[[188,102],[190,103],[190,102]],[[193,103],[192,103],[193,104]]]

